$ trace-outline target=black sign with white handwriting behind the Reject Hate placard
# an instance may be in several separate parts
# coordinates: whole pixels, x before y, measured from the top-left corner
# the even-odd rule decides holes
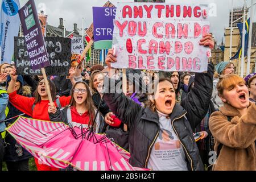
[[[71,67],[71,39],[46,37],[44,40],[51,63],[49,67],[46,67],[47,75],[67,75]],[[28,55],[25,38],[15,37],[14,60],[17,73],[19,75],[39,75],[41,70],[31,68]]]

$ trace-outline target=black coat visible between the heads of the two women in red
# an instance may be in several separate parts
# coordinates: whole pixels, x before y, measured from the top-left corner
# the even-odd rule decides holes
[[[59,96],[70,96],[72,83],[66,76],[56,76],[53,82],[56,86],[56,93]]]

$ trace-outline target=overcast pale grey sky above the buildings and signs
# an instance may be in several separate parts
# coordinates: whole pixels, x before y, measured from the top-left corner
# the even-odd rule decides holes
[[[45,10],[48,15],[48,24],[59,26],[59,18],[65,20],[67,30],[73,30],[73,23],[77,23],[78,28],[82,28],[82,17],[85,18],[84,28],[93,21],[92,7],[103,6],[108,0],[35,0],[37,9]],[[215,3],[217,16],[210,18],[210,32],[213,33],[218,43],[224,37],[224,28],[229,27],[229,10],[232,0],[166,0],[167,3]],[[23,6],[27,0],[20,0]],[[133,0],[110,0],[114,5],[117,2],[133,2]],[[244,0],[234,0],[234,7],[243,6]],[[251,5],[251,0],[247,0],[247,6]],[[254,17],[256,13],[254,14]],[[254,20],[255,22],[255,20]]]

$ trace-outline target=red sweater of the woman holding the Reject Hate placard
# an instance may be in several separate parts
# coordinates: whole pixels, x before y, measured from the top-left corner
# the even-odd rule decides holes
[[[61,106],[67,106],[69,101],[71,100],[71,96],[60,97],[60,104]],[[40,101],[38,102],[34,110],[32,110],[32,106],[35,103],[34,97],[25,97],[20,96],[14,91],[13,93],[9,94],[9,101],[13,104],[18,110],[22,111],[23,113],[30,115],[34,119],[40,119],[44,121],[49,121],[49,114],[48,114],[48,104],[49,101]],[[57,107],[56,101],[54,101],[55,106]]]

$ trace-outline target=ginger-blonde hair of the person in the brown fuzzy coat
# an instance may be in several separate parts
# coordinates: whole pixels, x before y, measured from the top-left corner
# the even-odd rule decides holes
[[[245,84],[245,80],[238,75],[222,75],[217,83],[218,95],[222,96],[224,89],[228,89],[230,86],[236,86],[241,83]]]

